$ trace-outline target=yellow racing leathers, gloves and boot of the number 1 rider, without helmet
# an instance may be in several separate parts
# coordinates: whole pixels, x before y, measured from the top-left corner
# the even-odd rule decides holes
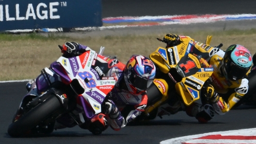
[[[165,40],[169,35],[165,35]],[[177,37],[177,36],[176,36]],[[174,36],[174,38],[176,38]],[[178,44],[183,43],[189,36],[179,35]],[[191,38],[190,38],[191,39]],[[193,102],[186,108],[186,113],[189,116],[194,116],[199,122],[206,123],[214,117],[215,113],[224,115],[228,112],[248,91],[248,80],[246,77],[236,81],[230,81],[227,76],[224,76],[223,58],[225,52],[219,47],[212,47],[209,43],[196,42],[193,39],[193,46],[187,51],[201,57],[201,64],[207,68],[207,65],[212,65],[214,72],[210,75],[208,81],[204,84],[201,90],[201,103]],[[168,43],[171,43],[169,42]],[[175,41],[175,42],[176,42]],[[165,42],[166,43],[166,42]],[[167,47],[168,47],[167,43]],[[220,44],[221,45],[221,44]],[[250,71],[249,71],[250,72]],[[198,75],[208,76],[208,75]]]

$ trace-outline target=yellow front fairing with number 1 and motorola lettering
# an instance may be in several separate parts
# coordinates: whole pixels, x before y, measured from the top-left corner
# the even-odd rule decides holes
[[[166,79],[167,81],[175,82],[176,92],[188,106],[200,98],[200,90],[212,74],[213,68],[209,65],[203,68],[202,63],[205,60],[199,56],[199,53],[197,55],[191,53],[195,48],[191,38],[182,40],[183,43],[174,47],[159,47],[149,57],[161,72],[169,75],[170,79]]]

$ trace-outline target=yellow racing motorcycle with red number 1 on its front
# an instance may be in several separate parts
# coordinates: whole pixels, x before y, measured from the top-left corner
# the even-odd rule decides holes
[[[195,42],[190,37],[180,38],[183,43],[168,48],[158,47],[149,55],[157,67],[156,78],[147,89],[147,107],[136,120],[173,115],[185,111],[200,99],[200,91],[214,70],[207,60],[222,43],[210,46],[211,36],[208,36],[206,44]]]

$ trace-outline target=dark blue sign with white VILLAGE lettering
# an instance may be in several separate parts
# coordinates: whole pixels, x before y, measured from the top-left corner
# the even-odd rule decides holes
[[[0,31],[100,26],[101,0],[0,0]]]

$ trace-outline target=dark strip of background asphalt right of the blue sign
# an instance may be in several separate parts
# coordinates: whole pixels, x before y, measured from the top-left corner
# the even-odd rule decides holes
[[[256,14],[256,0],[102,0],[102,18],[183,14]]]

